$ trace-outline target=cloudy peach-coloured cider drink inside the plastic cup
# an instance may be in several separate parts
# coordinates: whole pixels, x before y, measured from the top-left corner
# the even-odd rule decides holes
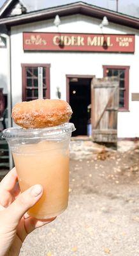
[[[67,143],[42,141],[20,145],[20,153],[13,153],[21,191],[34,184],[41,184],[44,189],[40,201],[29,210],[30,216],[55,217],[66,209],[69,189]]]

